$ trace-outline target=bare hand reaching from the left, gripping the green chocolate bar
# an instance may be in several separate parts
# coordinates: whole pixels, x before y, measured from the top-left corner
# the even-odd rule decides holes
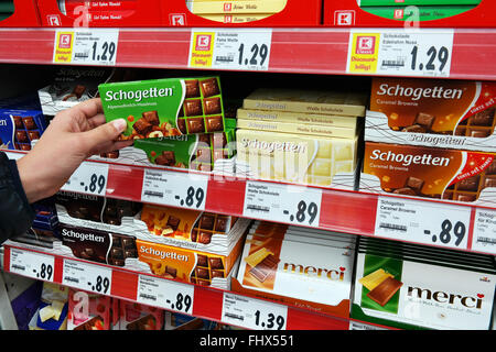
[[[105,123],[100,99],[57,113],[35,147],[18,161],[28,200],[54,195],[88,156],[130,145],[132,141],[117,141],[126,125],[125,120]]]

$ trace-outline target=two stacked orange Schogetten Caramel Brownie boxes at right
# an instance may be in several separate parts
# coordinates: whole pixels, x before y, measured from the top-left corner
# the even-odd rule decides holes
[[[364,191],[494,204],[496,85],[374,78]]]

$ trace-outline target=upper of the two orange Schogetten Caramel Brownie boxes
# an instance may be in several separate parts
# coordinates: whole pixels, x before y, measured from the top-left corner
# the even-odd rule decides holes
[[[496,152],[496,84],[374,78],[365,141]]]

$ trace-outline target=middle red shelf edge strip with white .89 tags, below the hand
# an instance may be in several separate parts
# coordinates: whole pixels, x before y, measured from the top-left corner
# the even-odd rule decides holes
[[[8,155],[11,158],[20,157],[23,152],[8,151]],[[177,169],[118,165],[96,161],[83,163],[77,173],[76,186],[85,177],[88,183],[89,177],[94,174],[105,175],[106,184],[103,187],[94,187],[94,191],[87,186],[74,188],[67,185],[62,188],[63,190],[466,252],[496,254],[496,223],[492,221],[493,217],[496,218],[496,207],[306,187],[217,174],[190,174]],[[153,188],[150,187],[150,184],[153,184],[150,182],[151,178],[161,179],[161,183],[154,183],[154,189],[159,194],[169,194],[168,197],[153,195]],[[251,190],[259,187],[262,187],[266,194],[276,196],[254,197]],[[204,195],[201,198],[192,197],[190,206],[184,201],[188,188],[195,190],[195,197],[198,195],[198,189]],[[305,217],[296,216],[301,201],[309,206]],[[399,219],[396,224],[390,227],[384,226],[384,222],[388,222],[386,221],[387,217],[391,213],[388,212],[389,209],[385,213],[382,206],[397,201],[408,209],[407,212],[411,209],[418,212],[413,216],[417,224],[411,223],[412,218],[410,217]],[[316,206],[313,220],[310,212],[311,202]],[[401,215],[392,212],[392,217],[395,216]],[[486,221],[486,219],[490,221]],[[454,233],[454,229],[452,229],[449,237],[442,237],[443,221],[450,221],[452,228],[455,223],[461,222],[456,231],[463,228],[463,233]],[[479,222],[483,222],[482,227],[477,226]],[[407,226],[410,228],[407,229]]]

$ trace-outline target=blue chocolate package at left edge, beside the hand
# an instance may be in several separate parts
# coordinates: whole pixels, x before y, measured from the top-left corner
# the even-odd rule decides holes
[[[47,124],[40,110],[0,109],[1,148],[31,151]]]

